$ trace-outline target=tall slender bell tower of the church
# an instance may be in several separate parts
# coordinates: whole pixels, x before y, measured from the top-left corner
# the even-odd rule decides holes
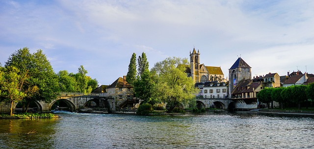
[[[200,52],[193,48],[193,52],[190,51],[190,64],[191,64],[191,77],[195,83],[199,82],[199,69],[200,69]]]

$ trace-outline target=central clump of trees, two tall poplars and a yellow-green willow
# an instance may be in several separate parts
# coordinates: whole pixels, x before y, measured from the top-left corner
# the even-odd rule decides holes
[[[167,112],[172,112],[180,104],[196,105],[198,89],[191,77],[187,77],[186,66],[189,66],[186,58],[173,57],[157,62],[149,70],[146,54],[143,52],[136,64],[136,54],[133,53],[126,79],[133,86],[135,97],[142,100],[141,105],[166,103],[169,106]]]

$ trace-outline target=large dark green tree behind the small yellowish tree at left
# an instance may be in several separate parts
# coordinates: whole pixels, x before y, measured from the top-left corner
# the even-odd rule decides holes
[[[16,67],[23,74],[28,72],[29,77],[26,80],[27,84],[23,85],[24,89],[35,86],[38,88],[37,93],[29,93],[24,98],[23,105],[26,105],[26,111],[32,100],[50,102],[57,98],[58,79],[42,50],[30,54],[27,47],[19,49],[5,63],[5,67],[9,66]]]

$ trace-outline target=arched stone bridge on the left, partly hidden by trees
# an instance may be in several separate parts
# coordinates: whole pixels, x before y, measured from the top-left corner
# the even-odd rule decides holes
[[[43,101],[34,101],[37,108],[36,111],[38,112],[49,112],[52,110],[52,106],[57,102],[62,101],[64,102],[70,111],[79,111],[83,109],[87,103],[91,101],[94,102],[96,105],[95,107],[101,107],[108,110],[114,110],[115,104],[112,97],[101,97],[99,94],[89,94],[83,95],[82,93],[61,93],[60,96],[56,100],[52,100],[50,103],[45,103]],[[15,111],[17,103],[13,105],[13,111]],[[10,111],[10,104],[9,103],[0,103],[0,112],[9,112]]]

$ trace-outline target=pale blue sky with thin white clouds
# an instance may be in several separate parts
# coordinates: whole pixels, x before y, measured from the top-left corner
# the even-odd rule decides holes
[[[314,0],[0,0],[2,66],[23,47],[99,85],[126,75],[132,53],[152,68],[193,48],[225,78],[238,57],[252,78],[314,73]]]

